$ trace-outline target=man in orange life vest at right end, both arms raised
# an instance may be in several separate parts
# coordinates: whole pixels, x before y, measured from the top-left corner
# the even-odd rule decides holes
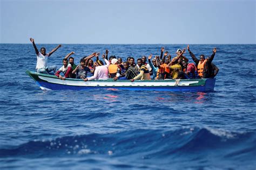
[[[207,79],[211,76],[211,70],[209,69],[211,67],[212,60],[214,59],[215,53],[217,51],[216,48],[213,48],[212,55],[209,59],[205,59],[205,55],[200,55],[200,60],[196,58],[196,56],[190,51],[190,45],[187,45],[187,51],[190,53],[191,58],[196,63],[196,67],[198,70],[198,75],[202,79]]]

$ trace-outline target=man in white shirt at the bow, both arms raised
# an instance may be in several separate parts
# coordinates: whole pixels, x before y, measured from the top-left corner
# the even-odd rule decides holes
[[[33,47],[35,48],[37,56],[36,72],[43,74],[49,74],[50,72],[53,72],[53,74],[55,74],[57,66],[48,66],[48,58],[51,56],[52,53],[56,52],[56,50],[62,45],[58,45],[56,48],[53,48],[51,52],[46,53],[45,47],[42,47],[39,52],[36,47],[35,40],[33,38],[30,38],[30,41],[32,42]]]

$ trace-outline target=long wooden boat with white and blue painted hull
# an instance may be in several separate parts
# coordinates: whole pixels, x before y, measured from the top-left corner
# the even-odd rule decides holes
[[[120,89],[120,90],[154,90],[154,91],[213,91],[215,79],[186,80],[60,80],[55,75],[41,74],[26,70],[43,90],[87,90],[87,89]]]

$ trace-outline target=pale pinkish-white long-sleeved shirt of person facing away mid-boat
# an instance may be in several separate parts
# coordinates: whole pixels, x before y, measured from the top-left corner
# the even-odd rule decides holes
[[[88,80],[106,80],[109,79],[109,61],[105,59],[106,65],[97,66],[92,77],[88,77]]]

